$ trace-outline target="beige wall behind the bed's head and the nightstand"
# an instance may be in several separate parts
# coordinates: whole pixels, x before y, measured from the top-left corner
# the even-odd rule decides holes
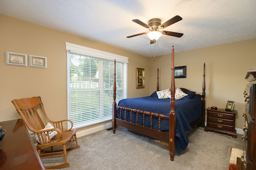
[[[244,78],[247,70],[256,67],[256,39],[217,45],[182,53],[175,53],[174,66],[187,66],[187,78],[176,78],[176,87],[184,87],[202,94],[203,64],[206,64],[206,107],[226,108],[236,102],[236,128],[242,129],[244,118]],[[174,47],[175,49],[175,47]],[[171,51],[171,47],[170,47]],[[160,90],[170,88],[171,55],[150,60],[151,76],[157,77],[159,67]],[[155,80],[150,79],[150,84]],[[155,86],[150,86],[154,92]]]

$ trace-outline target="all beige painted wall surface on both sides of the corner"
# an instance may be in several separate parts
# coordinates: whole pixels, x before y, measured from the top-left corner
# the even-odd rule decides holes
[[[170,55],[143,57],[122,49],[0,15],[0,121],[20,118],[11,101],[41,96],[50,119],[67,117],[65,42],[129,57],[128,98],[148,96],[156,90],[157,68],[160,89],[170,87]],[[256,66],[256,39],[175,54],[175,66],[187,66],[187,78],[175,79],[176,87],[202,92],[202,66],[206,63],[206,107],[225,108],[235,101],[236,127],[242,128],[244,77]],[[47,69],[7,66],[5,52],[47,57]],[[171,51],[171,47],[170,47]],[[145,88],[136,89],[136,67],[145,68]],[[186,85],[187,84],[187,85]],[[57,107],[56,107],[57,106]],[[80,129],[81,130],[81,129]]]

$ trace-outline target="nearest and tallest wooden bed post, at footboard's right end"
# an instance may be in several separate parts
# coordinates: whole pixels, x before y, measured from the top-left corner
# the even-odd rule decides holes
[[[172,82],[171,82],[171,111],[169,114],[169,150],[170,160],[174,160],[176,141],[176,113],[175,113],[175,81],[174,81],[174,46],[172,46]]]

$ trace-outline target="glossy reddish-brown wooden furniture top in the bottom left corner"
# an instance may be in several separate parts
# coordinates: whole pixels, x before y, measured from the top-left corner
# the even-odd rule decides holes
[[[0,141],[1,170],[45,170],[22,119],[3,121],[0,126],[6,129]]]

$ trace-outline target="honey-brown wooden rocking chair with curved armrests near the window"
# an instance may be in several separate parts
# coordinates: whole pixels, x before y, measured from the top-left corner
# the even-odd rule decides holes
[[[45,166],[45,168],[58,169],[68,166],[70,163],[67,161],[66,151],[80,147],[76,139],[76,129],[72,129],[73,122],[71,120],[51,121],[44,111],[44,105],[40,97],[23,98],[19,100],[15,99],[12,100],[12,104],[14,104],[17,112],[22,117],[28,129],[35,133],[35,137],[38,137],[39,141],[37,144],[37,151],[40,158],[44,159],[64,156],[65,163],[54,166]],[[46,120],[53,124],[51,129],[45,129],[45,125],[38,114],[39,109],[41,109],[39,113],[42,112]],[[71,127],[68,130],[63,129],[63,122],[65,121],[69,121],[71,123]],[[50,139],[50,135],[53,132],[57,132],[57,135]],[[76,141],[76,145],[68,148],[73,141]],[[57,147],[58,150],[54,150],[53,147],[57,145],[60,145],[60,147],[62,145],[63,149]]]

